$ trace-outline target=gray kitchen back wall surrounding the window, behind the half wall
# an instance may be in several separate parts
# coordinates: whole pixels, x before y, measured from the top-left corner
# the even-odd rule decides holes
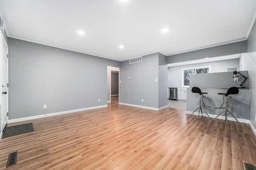
[[[211,66],[211,72],[226,72],[227,68],[239,68],[239,59],[230,59],[223,61],[214,61],[208,63],[188,64],[182,66],[168,67],[168,86],[181,87],[182,86],[182,68],[192,68],[200,66]],[[179,85],[177,85],[177,83]]]

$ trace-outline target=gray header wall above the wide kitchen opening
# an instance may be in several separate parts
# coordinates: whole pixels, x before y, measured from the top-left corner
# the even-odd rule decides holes
[[[167,64],[247,52],[247,41],[219,45],[167,57]]]

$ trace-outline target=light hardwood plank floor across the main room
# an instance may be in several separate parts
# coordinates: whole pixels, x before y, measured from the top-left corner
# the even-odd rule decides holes
[[[0,141],[0,169],[244,170],[256,164],[256,137],[246,123],[118,105],[34,119],[34,132]]]

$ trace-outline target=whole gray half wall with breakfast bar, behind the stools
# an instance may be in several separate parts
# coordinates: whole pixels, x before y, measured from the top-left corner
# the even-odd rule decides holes
[[[247,71],[242,71],[246,77],[248,77]],[[234,82],[232,78],[232,72],[220,72],[220,73],[208,73],[208,74],[191,74],[190,75],[190,88],[186,91],[186,113],[191,114],[199,106],[200,95],[197,93],[192,93],[192,87],[199,87],[202,92],[207,92],[204,94],[203,102],[206,106],[204,109],[210,115],[210,117],[215,118],[218,113],[224,110],[220,107],[223,102],[223,95],[218,93],[226,93],[230,87],[238,87],[239,93],[230,95],[228,97],[228,110],[233,113],[233,115],[240,122],[247,123],[246,120],[250,120],[250,89],[249,88],[239,88],[239,82],[243,81],[238,79],[238,83]],[[249,87],[250,83],[246,80],[245,84]],[[203,106],[203,104],[202,104]],[[222,107],[225,107],[225,102]],[[194,113],[198,115],[198,111]],[[204,114],[204,116],[207,116]],[[225,113],[222,113],[218,119],[225,119]],[[235,121],[235,119],[228,113],[228,120]]]

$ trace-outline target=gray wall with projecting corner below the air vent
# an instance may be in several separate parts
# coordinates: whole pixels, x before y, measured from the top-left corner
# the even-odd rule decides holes
[[[159,56],[162,58],[159,59]],[[142,62],[129,64],[129,61],[122,61],[120,68],[120,103],[132,104],[137,106],[159,108],[164,105],[159,101],[162,93],[159,94],[159,84],[165,84],[166,90],[167,76],[159,77],[159,62],[164,63],[164,57],[159,53],[146,55],[142,57]],[[164,70],[164,68],[163,68]],[[164,71],[160,71],[167,75]],[[131,77],[131,79],[128,79]],[[156,82],[158,78],[158,82]],[[161,80],[160,80],[161,79]],[[165,80],[164,80],[165,79]],[[166,100],[166,93],[164,96]],[[142,102],[144,99],[144,102]],[[161,99],[162,100],[162,99]],[[165,101],[167,105],[167,101]]]

